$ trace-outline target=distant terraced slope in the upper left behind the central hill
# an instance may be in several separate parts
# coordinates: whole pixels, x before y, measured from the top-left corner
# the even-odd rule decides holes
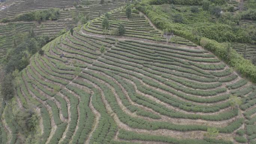
[[[31,21],[31,22],[10,22],[10,24],[1,24],[0,25],[0,59],[6,55],[8,49],[13,47],[14,39],[16,42],[21,42],[21,38],[18,38],[17,35],[22,32],[27,32],[31,29],[34,30],[36,36],[48,36],[52,37],[55,34],[58,34],[61,30],[70,29],[76,27],[77,23],[74,22],[72,15],[77,16],[86,16],[89,15],[90,19],[94,19],[99,15],[104,15],[104,13],[109,12],[110,10],[116,9],[117,7],[123,6],[125,3],[122,0],[116,0],[114,3],[98,4],[96,1],[91,1],[92,5],[77,8],[73,6],[74,1],[68,0],[63,1],[52,1],[44,0],[42,2],[35,2],[31,0],[19,1],[16,4],[2,10],[0,12],[0,20],[3,18],[13,18],[17,14],[29,12],[31,10],[38,9],[47,9],[50,7],[59,7],[60,15],[58,16],[57,21]],[[76,1],[77,4],[83,4],[85,1]],[[96,4],[95,4],[96,2]],[[63,3],[62,5],[60,3]],[[44,5],[47,5],[44,6]],[[24,7],[26,6],[26,7]],[[31,9],[30,9],[31,8]],[[17,11],[17,12],[16,12]]]

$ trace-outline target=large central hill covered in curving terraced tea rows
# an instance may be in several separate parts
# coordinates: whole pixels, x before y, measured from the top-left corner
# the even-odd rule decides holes
[[[239,129],[255,140],[255,85],[199,46],[156,42],[161,31],[143,15],[111,11],[122,37],[102,35],[102,19],[52,40],[21,71],[19,105],[37,108],[38,142],[231,144]],[[214,140],[208,128],[219,131]]]

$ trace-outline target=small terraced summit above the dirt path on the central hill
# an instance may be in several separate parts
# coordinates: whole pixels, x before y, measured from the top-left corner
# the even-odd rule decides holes
[[[127,29],[124,36],[148,40],[155,40],[155,37],[157,37],[159,39],[158,41],[166,41],[164,37],[161,37],[162,33],[159,30],[156,30],[152,25],[150,25],[149,21],[145,18],[144,15],[132,13],[131,18],[128,19],[125,12],[123,12],[124,10],[124,8],[119,8],[109,12],[110,28],[107,33],[103,31],[101,25],[104,16],[96,18],[91,22],[87,23],[86,25],[84,25],[83,29],[84,31],[89,33],[112,35],[111,31],[113,31],[115,28],[118,27],[120,23],[122,23]]]

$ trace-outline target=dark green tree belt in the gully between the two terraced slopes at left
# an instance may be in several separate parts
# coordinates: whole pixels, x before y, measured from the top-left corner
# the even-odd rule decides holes
[[[21,43],[17,44],[17,39],[22,39]],[[25,68],[29,64],[31,55],[38,52],[47,42],[49,42],[48,36],[36,36],[33,29],[13,37],[13,48],[7,51],[3,59],[5,75],[1,83],[1,94],[6,101],[14,96],[14,79],[18,71]]]

